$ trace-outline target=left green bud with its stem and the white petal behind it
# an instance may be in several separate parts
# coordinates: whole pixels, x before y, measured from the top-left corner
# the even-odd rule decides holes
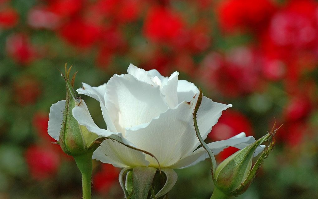
[[[85,102],[76,97],[73,86],[75,75],[70,80],[72,66],[67,69],[65,64],[66,100],[53,104],[50,108],[48,134],[57,140],[62,150],[74,157],[74,160],[83,176],[83,199],[91,198],[92,156],[100,145],[100,137],[91,133],[73,117],[75,107],[87,108]]]

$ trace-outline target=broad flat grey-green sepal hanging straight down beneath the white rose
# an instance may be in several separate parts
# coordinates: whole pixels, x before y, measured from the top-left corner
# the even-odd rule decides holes
[[[157,169],[154,167],[133,168],[133,190],[135,198],[147,199]]]

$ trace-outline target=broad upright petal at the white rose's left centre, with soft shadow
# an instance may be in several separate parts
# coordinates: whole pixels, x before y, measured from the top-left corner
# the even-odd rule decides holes
[[[133,75],[114,75],[107,83],[105,104],[116,129],[144,124],[168,109],[159,86],[136,79]]]

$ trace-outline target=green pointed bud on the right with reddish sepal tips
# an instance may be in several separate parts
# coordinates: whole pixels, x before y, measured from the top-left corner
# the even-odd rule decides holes
[[[268,154],[273,150],[275,145],[274,134],[278,129],[275,129],[274,126],[271,132],[246,146],[244,149],[232,154],[218,165],[213,176],[215,190],[211,198],[220,198],[220,195],[227,196],[224,198],[230,198],[231,196],[241,195],[246,191],[252,183],[260,165],[263,163],[263,160],[267,158]],[[265,145],[261,144],[271,138],[272,140],[269,146],[264,149],[252,167],[252,159],[255,151],[259,146],[265,148]]]

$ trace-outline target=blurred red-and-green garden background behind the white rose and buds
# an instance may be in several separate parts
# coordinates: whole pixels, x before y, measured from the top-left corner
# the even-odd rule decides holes
[[[318,198],[318,3],[314,0],[0,0],[0,198],[78,199],[72,157],[47,135],[65,98],[58,69],[98,86],[130,63],[180,72],[232,103],[207,142],[284,123],[239,198]],[[97,124],[97,101],[82,96]],[[218,162],[235,152],[228,148]],[[93,198],[123,198],[118,168],[94,161]],[[176,170],[169,198],[208,199],[208,161]]]

